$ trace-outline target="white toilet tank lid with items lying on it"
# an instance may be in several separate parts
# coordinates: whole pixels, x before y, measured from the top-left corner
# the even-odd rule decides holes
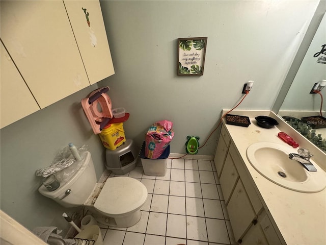
[[[75,171],[75,173],[72,174],[71,177],[67,178],[67,179],[62,179],[59,178],[59,175],[64,175],[65,171],[70,171],[67,167],[64,168],[63,170],[61,170],[60,172],[62,173],[57,173],[57,179],[60,182],[60,186],[58,189],[54,190],[54,191],[48,191],[46,189],[46,187],[42,184],[39,187],[39,192],[44,195],[45,197],[51,198],[51,199],[55,199],[60,197],[61,195],[63,195],[67,189],[69,189],[69,186],[71,186],[79,177],[80,175],[82,175],[84,173],[84,170],[86,169],[86,167],[88,166],[90,159],[91,159],[91,153],[90,152],[85,152],[84,154],[81,155],[82,160],[79,161],[75,161],[70,167],[73,168],[75,167],[77,170]]]

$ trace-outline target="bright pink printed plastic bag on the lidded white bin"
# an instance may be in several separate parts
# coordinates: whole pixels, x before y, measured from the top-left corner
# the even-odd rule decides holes
[[[172,121],[161,120],[148,129],[145,139],[145,157],[157,159],[162,155],[174,137],[172,126]]]

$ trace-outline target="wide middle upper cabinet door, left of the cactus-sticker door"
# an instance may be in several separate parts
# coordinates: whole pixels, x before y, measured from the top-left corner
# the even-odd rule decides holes
[[[90,85],[62,1],[0,3],[1,39],[41,108]]]

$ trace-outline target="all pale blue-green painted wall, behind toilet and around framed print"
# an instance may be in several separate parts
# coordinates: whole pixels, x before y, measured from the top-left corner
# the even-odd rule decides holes
[[[255,84],[239,108],[273,106],[317,2],[102,1],[116,75],[98,86],[110,86],[113,106],[130,113],[127,138],[140,144],[153,122],[168,119],[171,152],[184,153],[186,136],[203,142],[248,80]],[[208,37],[204,76],[177,77],[177,38],[201,36]],[[88,144],[98,178],[104,170],[103,146],[80,106],[98,86],[1,130],[1,209],[23,226],[69,228],[61,214],[72,211],[42,197],[34,175],[63,146]],[[199,154],[213,155],[216,133]]]

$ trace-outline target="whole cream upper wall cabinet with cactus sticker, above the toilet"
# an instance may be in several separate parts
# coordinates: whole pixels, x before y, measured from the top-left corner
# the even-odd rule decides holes
[[[114,74],[99,1],[1,1],[1,128]]]

